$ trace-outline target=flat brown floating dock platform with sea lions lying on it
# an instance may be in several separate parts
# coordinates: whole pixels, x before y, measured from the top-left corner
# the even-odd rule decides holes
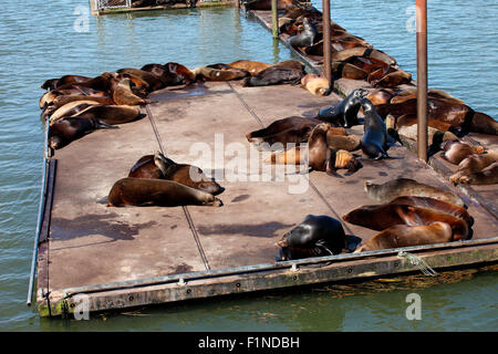
[[[207,82],[160,90],[149,98],[153,103],[144,108],[146,117],[120,129],[94,132],[56,150],[49,160],[38,258],[37,300],[42,316],[76,311],[82,294],[87,296],[90,311],[103,311],[418,271],[398,257],[398,250],[375,257],[343,253],[276,261],[276,241],[307,215],[341,219],[372,204],[363,190],[366,179],[384,183],[409,177],[450,189],[467,202],[475,219],[471,240],[407,249],[432,268],[498,260],[498,221],[492,214],[401,145],[390,149],[397,159],[362,159],[363,168],[352,176],[294,175],[309,178],[301,194],[290,192],[295,184],[292,176],[264,181],[261,168],[255,171],[243,156],[232,155],[239,147],[249,152],[246,133],[287,116],[314,116],[320,108],[336,104],[338,95],[317,97],[290,85],[242,87],[240,82]],[[362,126],[347,131],[363,134]],[[220,137],[222,163],[214,158],[199,163],[191,154],[199,143],[216,152]],[[247,179],[218,179],[226,188],[219,195],[220,208],[106,207],[113,184],[154,150],[217,174],[227,173],[235,162]],[[346,222],[343,226],[349,237],[363,241],[375,235]]]

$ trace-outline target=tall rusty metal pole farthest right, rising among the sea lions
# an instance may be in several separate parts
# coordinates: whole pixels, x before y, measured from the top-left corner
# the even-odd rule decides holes
[[[427,0],[417,6],[417,155],[427,162]]]

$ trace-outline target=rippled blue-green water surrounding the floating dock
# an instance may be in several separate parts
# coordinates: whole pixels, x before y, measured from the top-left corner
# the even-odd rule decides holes
[[[333,1],[332,18],[415,73],[415,33],[405,24],[414,1]],[[315,1],[317,7],[320,8]],[[146,63],[201,64],[239,59],[279,62],[289,51],[236,9],[89,17],[87,2],[6,1],[0,12],[0,331],[496,331],[497,277],[336,296],[329,291],[217,299],[91,321],[50,321],[25,306],[42,174],[40,85],[63,74],[95,76]],[[408,9],[408,11],[406,11]],[[494,0],[430,1],[429,86],[497,117],[498,6]],[[77,29],[77,28],[76,28]],[[76,171],[75,171],[76,174]],[[417,292],[421,321],[407,321]]]

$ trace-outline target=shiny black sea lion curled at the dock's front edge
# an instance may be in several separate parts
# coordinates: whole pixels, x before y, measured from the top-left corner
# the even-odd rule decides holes
[[[347,247],[342,223],[329,216],[308,215],[277,242],[280,260],[339,254]]]

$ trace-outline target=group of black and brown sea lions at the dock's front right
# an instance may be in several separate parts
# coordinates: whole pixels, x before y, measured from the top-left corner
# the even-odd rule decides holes
[[[356,208],[346,222],[380,231],[359,247],[349,244],[341,222],[309,215],[277,242],[278,260],[331,256],[434,244],[471,238],[474,219],[460,198],[414,179],[397,178],[381,185],[365,183],[369,198],[382,202]]]

